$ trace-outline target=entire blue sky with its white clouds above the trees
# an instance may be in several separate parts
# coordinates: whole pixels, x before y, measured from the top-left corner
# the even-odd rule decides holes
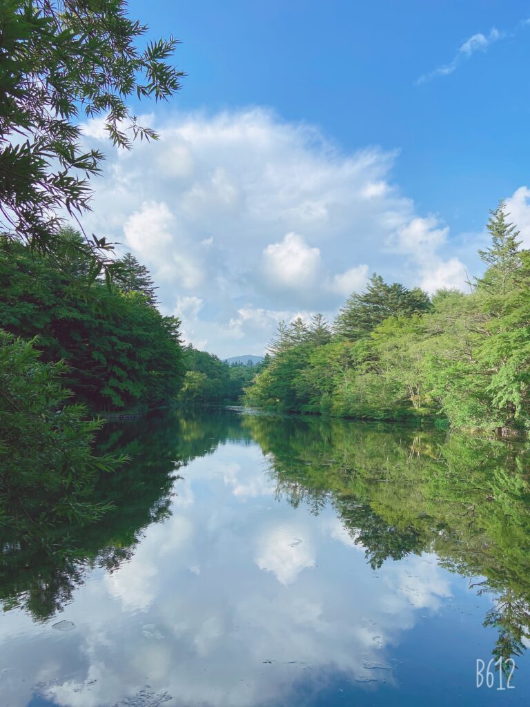
[[[260,353],[278,318],[317,309],[331,317],[348,284],[362,287],[374,270],[430,291],[463,286],[498,199],[518,194],[512,212],[530,224],[520,191],[530,184],[528,3],[153,0],[130,8],[150,35],[182,42],[182,91],[170,105],[142,109],[163,134],[157,165],[168,151],[174,162],[157,177],[143,148],[130,163],[111,153],[114,179],[101,182],[95,206],[109,209],[116,189],[116,216],[129,226],[106,213],[94,223],[147,261],[165,310],[182,317],[194,343],[221,356]],[[257,134],[268,137],[254,151]],[[151,165],[151,192],[124,176],[141,175],[141,160]],[[310,184],[312,169],[319,176]],[[276,191],[269,177],[260,186],[269,172],[283,175]],[[360,194],[370,195],[369,208],[348,211]],[[220,201],[230,203],[230,218]],[[162,230],[151,233],[155,222]],[[157,248],[164,257],[151,257]],[[253,311],[258,328],[249,325]]]

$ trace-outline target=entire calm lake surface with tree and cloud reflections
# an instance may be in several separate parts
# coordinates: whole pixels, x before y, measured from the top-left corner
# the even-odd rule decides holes
[[[100,445],[114,510],[4,543],[0,707],[530,703],[521,445],[238,409]]]

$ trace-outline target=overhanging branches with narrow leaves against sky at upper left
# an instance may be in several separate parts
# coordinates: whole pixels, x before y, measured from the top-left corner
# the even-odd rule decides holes
[[[123,0],[4,0],[0,28],[0,230],[49,252],[59,213],[83,214],[100,173],[102,153],[81,147],[81,115],[104,115],[114,145],[156,139],[126,99],[175,94],[182,72],[167,59],[177,40],[140,49],[147,28]],[[90,241],[100,264],[108,247]]]

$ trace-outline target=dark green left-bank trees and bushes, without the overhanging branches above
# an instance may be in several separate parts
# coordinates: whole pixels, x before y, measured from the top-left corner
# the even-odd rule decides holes
[[[115,261],[112,287],[91,281],[91,262],[71,228],[53,256],[0,238],[0,520],[20,530],[108,510],[95,485],[129,459],[95,455],[98,415],[237,402],[260,369],[184,347],[131,254]]]

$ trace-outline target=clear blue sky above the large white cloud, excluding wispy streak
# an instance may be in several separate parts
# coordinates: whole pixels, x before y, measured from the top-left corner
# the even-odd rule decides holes
[[[394,175],[420,209],[481,228],[528,180],[528,2],[195,0],[133,3],[172,32],[189,74],[179,108],[265,105],[345,150],[399,149]],[[416,86],[476,33],[507,37]]]

